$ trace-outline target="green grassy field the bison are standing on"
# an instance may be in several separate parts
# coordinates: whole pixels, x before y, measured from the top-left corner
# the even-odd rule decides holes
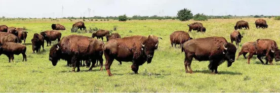
[[[259,38],[269,38],[278,44],[280,21],[265,19],[267,29],[256,29],[256,19],[210,19],[202,23],[206,32],[192,31],[191,37],[201,38],[208,36],[223,36],[230,41],[229,34],[234,30],[236,21],[249,22],[250,30],[239,30],[244,33],[242,43],[255,41]],[[59,61],[53,66],[48,60],[50,46],[45,51],[33,54],[31,38],[34,33],[43,30],[51,30],[52,23],[60,23],[67,30],[61,31],[62,36],[81,34],[91,36],[91,33],[71,33],[72,24],[78,20],[47,21],[0,21],[7,26],[23,27],[28,30],[26,40],[27,62],[21,62],[22,55],[15,56],[12,63],[8,63],[8,57],[0,56],[0,92],[280,92],[280,63],[273,61],[274,65],[261,65],[254,56],[251,64],[247,59],[240,57],[231,67],[226,63],[218,67],[219,74],[212,75],[208,69],[209,62],[192,61],[193,74],[185,73],[184,53],[180,48],[172,48],[169,35],[176,30],[187,31],[187,24],[195,21],[180,22],[178,20],[131,20],[127,22],[110,21],[86,21],[87,28],[113,29],[122,37],[132,35],[148,36],[149,34],[162,37],[159,39],[158,50],[155,52],[151,64],[143,64],[139,67],[139,74],[133,74],[130,66],[132,62],[123,62],[118,65],[114,61],[109,77],[105,67],[103,71],[94,68],[82,67],[81,72],[71,72],[71,67],[66,66],[66,61]],[[132,32],[129,32],[131,30]],[[56,43],[57,41],[55,41]],[[178,45],[177,45],[178,46]],[[241,50],[241,45],[236,52]],[[103,57],[104,58],[104,57]],[[105,63],[105,58],[104,58]]]

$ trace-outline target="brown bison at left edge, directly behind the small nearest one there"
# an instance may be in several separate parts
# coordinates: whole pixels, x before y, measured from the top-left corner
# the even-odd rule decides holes
[[[18,42],[18,38],[16,35],[7,32],[0,32],[0,45],[3,45],[7,42]]]

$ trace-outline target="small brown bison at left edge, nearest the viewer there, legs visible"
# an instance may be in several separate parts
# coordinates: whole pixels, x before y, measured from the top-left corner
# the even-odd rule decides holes
[[[26,60],[26,46],[23,44],[19,44],[19,43],[14,43],[14,42],[7,42],[5,44],[3,44],[2,46],[0,46],[0,55],[4,54],[9,58],[9,62],[14,62],[14,55],[19,55],[22,54],[23,60]]]

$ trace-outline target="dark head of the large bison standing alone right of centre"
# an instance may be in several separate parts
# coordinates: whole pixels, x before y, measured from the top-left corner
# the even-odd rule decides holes
[[[224,43],[223,45],[225,54],[225,60],[227,61],[227,67],[230,67],[231,64],[235,61],[236,47],[232,43]]]

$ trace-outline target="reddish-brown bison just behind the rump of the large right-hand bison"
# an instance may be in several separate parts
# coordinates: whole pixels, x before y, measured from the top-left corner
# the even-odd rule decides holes
[[[180,44],[180,47],[182,47],[183,43],[190,39],[192,38],[189,36],[189,33],[185,31],[175,31],[170,35],[171,46],[173,47],[173,44],[175,44],[175,48],[176,44]]]

